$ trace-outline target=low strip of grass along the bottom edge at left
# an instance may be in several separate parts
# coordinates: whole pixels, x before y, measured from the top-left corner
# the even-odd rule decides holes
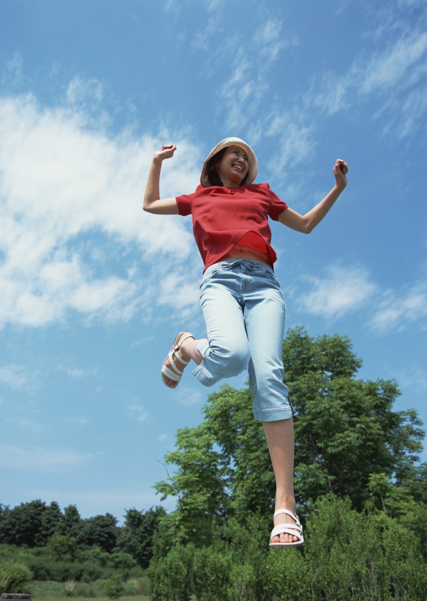
[[[111,601],[96,583],[76,582],[72,595],[66,594],[65,582],[32,581],[30,590],[34,601]],[[147,594],[123,595],[118,601],[150,601],[150,597]]]

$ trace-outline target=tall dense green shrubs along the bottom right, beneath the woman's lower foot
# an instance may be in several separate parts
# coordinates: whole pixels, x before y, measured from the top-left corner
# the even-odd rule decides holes
[[[152,601],[425,601],[420,537],[384,513],[358,513],[349,499],[322,498],[301,547],[269,549],[269,524],[231,519],[213,544],[174,546],[149,568]]]

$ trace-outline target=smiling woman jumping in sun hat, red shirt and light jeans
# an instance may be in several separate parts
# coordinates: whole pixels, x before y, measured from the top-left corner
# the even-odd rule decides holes
[[[270,245],[268,217],[309,234],[347,185],[348,166],[337,160],[334,188],[309,213],[300,215],[268,184],[253,184],[257,159],[239,138],[226,138],[213,148],[194,194],[161,200],[162,161],[175,150],[175,145],[167,145],[154,154],[144,210],[158,215],[192,215],[204,262],[200,305],[207,338],[195,340],[189,332],[180,332],[162,365],[162,380],[176,388],[191,360],[196,365],[192,373],[205,386],[248,367],[253,412],[263,424],[276,482],[269,544],[301,545],[303,531],[293,495],[292,407],[281,359],[285,307],[273,272],[276,254]]]

